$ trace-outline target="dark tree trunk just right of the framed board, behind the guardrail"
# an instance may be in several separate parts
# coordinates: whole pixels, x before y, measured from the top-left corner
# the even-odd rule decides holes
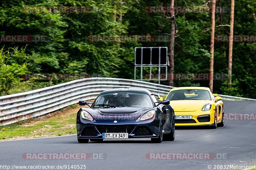
[[[172,20],[172,30],[171,30],[171,41],[169,48],[169,63],[170,63],[170,77],[169,86],[173,86],[173,73],[174,73],[174,41],[175,41],[175,11],[174,11],[174,0],[171,0],[171,20]]]

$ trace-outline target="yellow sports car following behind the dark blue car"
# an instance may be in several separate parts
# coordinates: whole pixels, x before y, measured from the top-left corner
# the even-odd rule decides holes
[[[173,88],[166,100],[175,112],[175,126],[224,126],[221,97],[206,87]]]

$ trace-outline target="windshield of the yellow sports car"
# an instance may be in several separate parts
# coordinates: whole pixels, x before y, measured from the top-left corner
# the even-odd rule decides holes
[[[209,91],[186,89],[174,90],[166,98],[167,100],[211,100]]]

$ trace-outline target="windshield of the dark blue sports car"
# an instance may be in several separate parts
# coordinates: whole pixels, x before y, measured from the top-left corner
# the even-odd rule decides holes
[[[145,93],[112,92],[100,95],[93,105],[97,107],[153,107],[153,103]]]

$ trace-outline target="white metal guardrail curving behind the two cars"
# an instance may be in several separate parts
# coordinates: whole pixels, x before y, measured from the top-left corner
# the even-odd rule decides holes
[[[20,120],[38,117],[79,100],[95,99],[100,92],[113,88],[145,88],[152,93],[166,96],[174,87],[145,81],[116,78],[85,78],[32,90],[24,93],[0,97],[0,125],[12,124]],[[226,100],[255,100],[219,95]]]

